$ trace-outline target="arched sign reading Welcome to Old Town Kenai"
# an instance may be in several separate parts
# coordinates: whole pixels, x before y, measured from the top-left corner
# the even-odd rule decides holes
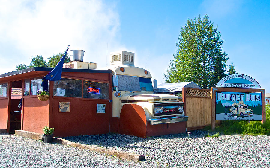
[[[244,74],[231,74],[220,79],[216,87],[225,88],[261,88],[259,83],[250,76]]]

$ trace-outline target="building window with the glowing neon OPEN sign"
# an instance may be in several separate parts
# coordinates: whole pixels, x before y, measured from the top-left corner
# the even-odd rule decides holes
[[[109,99],[109,84],[83,81],[83,97],[91,99]]]

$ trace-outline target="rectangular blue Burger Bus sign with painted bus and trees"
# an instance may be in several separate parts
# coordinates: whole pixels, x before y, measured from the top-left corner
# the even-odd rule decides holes
[[[216,120],[262,120],[262,93],[215,92]]]

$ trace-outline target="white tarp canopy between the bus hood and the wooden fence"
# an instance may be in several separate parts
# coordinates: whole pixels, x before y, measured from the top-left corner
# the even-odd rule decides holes
[[[183,88],[198,88],[201,89],[196,83],[194,82],[175,82],[175,83],[161,83],[158,85],[158,89],[155,90],[156,93],[161,92],[176,92],[182,91]]]

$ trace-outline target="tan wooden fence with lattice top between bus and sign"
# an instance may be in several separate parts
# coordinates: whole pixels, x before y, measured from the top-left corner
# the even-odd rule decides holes
[[[187,131],[211,124],[211,90],[183,88],[183,101],[188,116]]]

